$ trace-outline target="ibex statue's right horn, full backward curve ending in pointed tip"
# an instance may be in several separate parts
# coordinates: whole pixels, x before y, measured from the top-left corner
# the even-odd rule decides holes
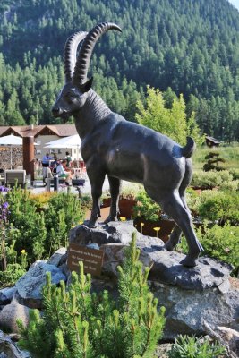
[[[107,30],[122,31],[121,28],[112,22],[99,23],[88,33],[84,39],[81,49],[75,64],[73,72],[73,82],[77,85],[83,84],[87,81],[87,72],[90,64],[90,57],[92,55],[93,48],[98,40]]]

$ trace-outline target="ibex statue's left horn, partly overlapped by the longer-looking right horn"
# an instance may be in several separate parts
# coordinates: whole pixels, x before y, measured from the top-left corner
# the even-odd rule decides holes
[[[72,80],[74,66],[76,63],[76,51],[80,42],[87,36],[87,32],[75,32],[67,38],[64,45],[64,77],[65,82]]]

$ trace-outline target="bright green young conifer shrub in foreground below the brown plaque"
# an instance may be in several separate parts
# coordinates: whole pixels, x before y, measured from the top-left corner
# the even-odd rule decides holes
[[[90,294],[90,275],[72,274],[69,290],[47,285],[43,289],[43,316],[30,312],[30,324],[23,328],[19,345],[32,357],[130,358],[152,357],[165,324],[164,309],[158,313],[158,300],[149,293],[149,268],[138,261],[135,235],[130,251],[119,268],[119,300],[107,291]],[[44,344],[43,344],[44,342]]]

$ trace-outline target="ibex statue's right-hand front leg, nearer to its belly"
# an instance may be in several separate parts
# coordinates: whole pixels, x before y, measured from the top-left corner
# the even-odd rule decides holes
[[[105,220],[105,223],[110,221],[117,221],[117,214],[119,213],[119,193],[121,188],[121,181],[118,178],[108,176],[109,191],[111,195],[111,205],[109,216]]]

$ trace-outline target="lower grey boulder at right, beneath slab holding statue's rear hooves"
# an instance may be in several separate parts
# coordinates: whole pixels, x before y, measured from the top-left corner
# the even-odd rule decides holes
[[[212,327],[230,326],[239,319],[239,292],[229,290],[222,294],[217,287],[203,291],[185,290],[178,286],[150,282],[158,306],[166,307],[165,337],[176,334],[206,333],[203,321]]]

